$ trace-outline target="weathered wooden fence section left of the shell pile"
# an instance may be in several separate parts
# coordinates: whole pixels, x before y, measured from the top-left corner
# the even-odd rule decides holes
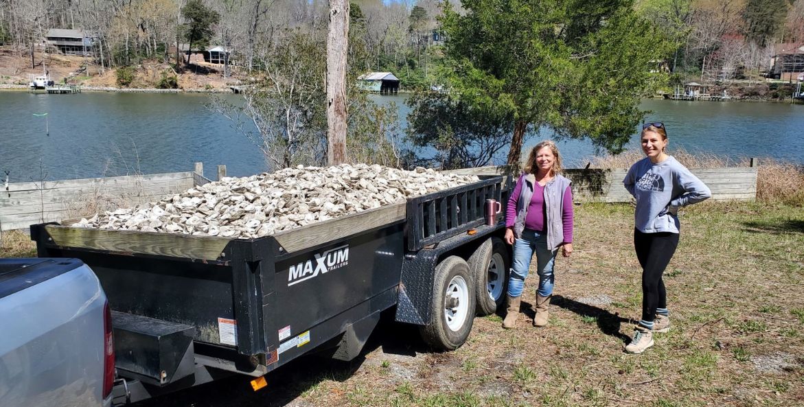
[[[226,175],[219,166],[218,176]],[[203,166],[195,171],[154,175],[9,183],[0,187],[0,230],[60,222],[111,208],[130,208],[210,182]]]

